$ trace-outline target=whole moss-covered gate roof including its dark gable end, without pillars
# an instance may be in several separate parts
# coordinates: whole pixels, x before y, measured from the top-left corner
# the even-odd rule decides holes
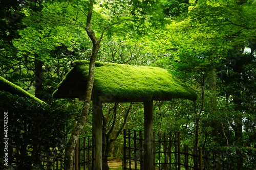
[[[80,98],[85,94],[89,61],[77,60],[53,93],[53,98]],[[93,91],[103,102],[196,100],[197,94],[159,67],[96,62]]]

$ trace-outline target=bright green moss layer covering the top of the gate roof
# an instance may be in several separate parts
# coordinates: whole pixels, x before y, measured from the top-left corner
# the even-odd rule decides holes
[[[77,60],[74,63],[72,69],[76,69],[79,74],[87,78],[89,61]],[[69,76],[72,76],[71,71],[67,74],[67,77]],[[63,83],[65,84],[65,79],[61,82]],[[86,84],[84,86],[86,88]],[[102,96],[112,95],[120,100],[197,99],[197,94],[193,90],[177,81],[167,70],[159,67],[96,62],[94,89]]]

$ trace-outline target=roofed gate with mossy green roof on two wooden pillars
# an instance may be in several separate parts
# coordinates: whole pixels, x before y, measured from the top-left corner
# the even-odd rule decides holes
[[[86,99],[90,61],[77,60],[53,93],[54,99]],[[95,63],[92,91],[92,133],[95,136],[95,169],[102,169],[102,103],[140,102],[144,107],[144,167],[154,169],[153,101],[197,100],[197,93],[165,69],[115,63]]]

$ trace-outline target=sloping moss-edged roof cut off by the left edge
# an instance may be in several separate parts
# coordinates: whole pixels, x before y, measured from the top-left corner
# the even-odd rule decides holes
[[[36,98],[34,95],[30,94],[29,92],[25,91],[24,89],[20,88],[19,86],[13,84],[12,82],[6,80],[1,76],[0,76],[0,90],[8,91],[12,94],[17,94],[25,98],[30,98],[40,103],[45,103],[44,101],[41,101],[40,99]]]

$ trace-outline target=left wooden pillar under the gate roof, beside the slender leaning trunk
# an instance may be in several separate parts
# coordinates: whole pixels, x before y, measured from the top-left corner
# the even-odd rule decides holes
[[[94,170],[102,169],[102,102],[93,98],[93,136],[95,137]]]

